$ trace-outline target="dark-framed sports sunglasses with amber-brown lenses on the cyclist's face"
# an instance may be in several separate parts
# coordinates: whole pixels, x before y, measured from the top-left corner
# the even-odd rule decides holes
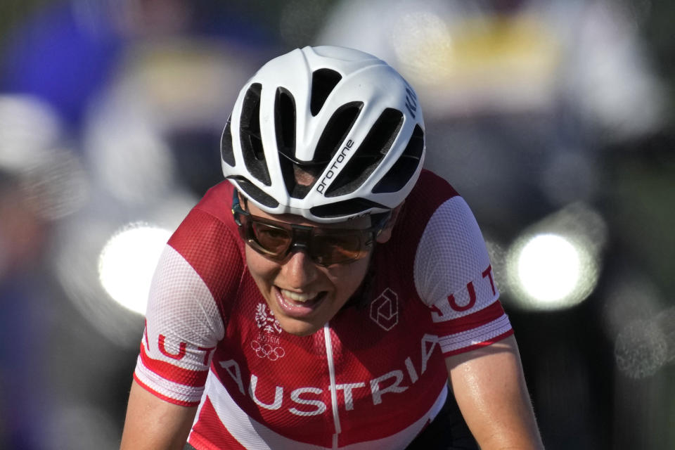
[[[367,229],[330,229],[296,225],[253,216],[239,203],[234,191],[232,214],[239,235],[250,248],[267,259],[282,262],[290,253],[303,250],[316,264],[330,266],[356,261],[368,255],[375,238],[391,213],[382,214],[375,226]]]

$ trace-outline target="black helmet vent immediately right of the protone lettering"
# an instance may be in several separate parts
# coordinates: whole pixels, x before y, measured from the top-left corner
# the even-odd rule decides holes
[[[387,108],[368,131],[366,139],[326,190],[326,197],[336,197],[356,190],[373,173],[392,147],[403,124],[403,113]]]

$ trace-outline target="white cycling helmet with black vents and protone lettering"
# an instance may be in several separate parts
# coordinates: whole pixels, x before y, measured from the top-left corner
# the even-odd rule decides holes
[[[330,223],[397,207],[423,165],[411,86],[375,56],[304,47],[243,87],[221,139],[223,173],[269,214]]]

